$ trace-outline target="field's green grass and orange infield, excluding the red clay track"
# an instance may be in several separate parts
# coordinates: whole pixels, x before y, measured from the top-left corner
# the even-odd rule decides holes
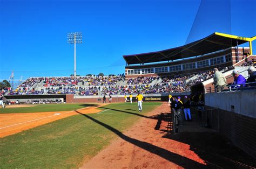
[[[1,168],[77,168],[161,103],[43,104],[0,109]]]

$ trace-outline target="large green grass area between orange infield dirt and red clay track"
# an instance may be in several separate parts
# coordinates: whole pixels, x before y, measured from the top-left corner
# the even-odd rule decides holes
[[[1,168],[77,168],[161,103],[109,104],[100,114],[74,115],[0,138]],[[102,125],[104,124],[104,125]],[[114,129],[113,131],[107,129]]]

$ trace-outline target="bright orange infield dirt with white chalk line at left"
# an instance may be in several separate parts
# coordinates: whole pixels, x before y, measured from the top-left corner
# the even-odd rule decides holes
[[[90,114],[100,112],[97,109],[107,104],[98,104],[97,107],[86,107],[78,109],[81,114]],[[23,130],[35,128],[36,126],[43,125],[56,121],[58,119],[66,118],[69,116],[77,115],[78,112],[71,111],[54,111],[54,112],[32,112],[32,113],[12,113],[0,114],[0,138],[13,135]],[[59,115],[55,115],[59,114]]]

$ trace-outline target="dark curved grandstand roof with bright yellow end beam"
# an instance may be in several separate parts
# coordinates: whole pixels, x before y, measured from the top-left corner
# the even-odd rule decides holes
[[[248,41],[252,41],[255,38],[256,36],[253,38],[245,38],[215,32],[206,38],[194,41],[184,46],[174,47],[158,52],[123,55],[123,58],[128,65],[184,59],[217,52],[232,46],[237,46],[237,44],[241,45]]]

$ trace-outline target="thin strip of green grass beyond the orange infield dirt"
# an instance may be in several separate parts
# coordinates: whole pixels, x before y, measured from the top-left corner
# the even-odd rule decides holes
[[[29,104],[35,107],[24,108],[0,108],[0,114],[19,113],[19,112],[48,112],[48,111],[70,111],[77,110],[96,104]]]

